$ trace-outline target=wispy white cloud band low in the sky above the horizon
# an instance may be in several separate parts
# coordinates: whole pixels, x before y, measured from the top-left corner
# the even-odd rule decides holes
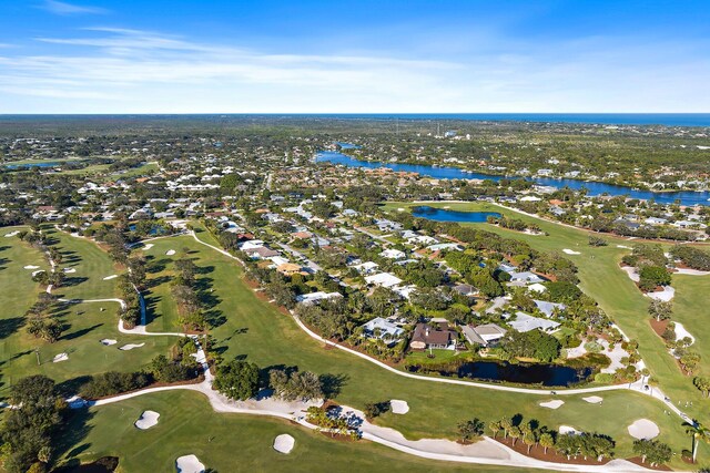
[[[116,28],[38,41],[62,47],[62,54],[0,56],[0,113],[710,109],[710,96],[702,93],[710,62],[693,51],[678,54],[677,44],[635,47],[592,38],[519,48],[508,43],[495,53],[473,45],[468,54],[440,58],[265,53]]]

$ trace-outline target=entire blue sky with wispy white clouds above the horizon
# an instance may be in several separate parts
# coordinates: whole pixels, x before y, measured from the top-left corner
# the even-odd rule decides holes
[[[710,112],[706,1],[0,2],[0,113]]]

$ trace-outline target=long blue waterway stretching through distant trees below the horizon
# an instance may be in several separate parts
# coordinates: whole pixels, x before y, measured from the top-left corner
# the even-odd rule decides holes
[[[322,151],[315,156],[316,163],[333,163],[342,164],[348,167],[365,167],[365,168],[378,168],[387,167],[396,172],[418,173],[423,176],[434,177],[437,179],[490,179],[500,181],[503,178],[520,178],[519,176],[494,176],[489,174],[475,173],[471,171],[462,169],[459,167],[439,167],[428,166],[425,164],[403,164],[403,163],[383,163],[378,161],[361,161],[354,157],[347,156],[343,153],[335,151]],[[710,192],[663,192],[655,193],[651,191],[637,191],[631,187],[617,186],[612,184],[595,183],[579,179],[561,179],[552,177],[531,177],[537,184],[551,186],[557,188],[569,187],[575,191],[582,188],[587,189],[587,195],[611,195],[619,196],[625,195],[630,198],[638,198],[645,200],[656,200],[661,204],[673,204],[679,200],[681,205],[709,205]]]

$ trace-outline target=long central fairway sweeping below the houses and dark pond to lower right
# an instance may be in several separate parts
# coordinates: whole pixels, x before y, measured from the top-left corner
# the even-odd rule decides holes
[[[227,259],[219,254],[216,257]],[[661,426],[662,440],[678,451],[687,448],[688,439],[680,420],[666,415],[661,403],[642,394],[605,393],[602,407],[582,401],[581,395],[565,397],[562,408],[549,410],[539,405],[548,400],[545,395],[412,380],[339,350],[324,348],[303,333],[290,317],[248,290],[235,263],[231,268],[229,280],[214,285],[214,294],[220,299],[217,307],[226,321],[214,329],[213,335],[219,347],[225,350],[225,359],[246,356],[262,368],[297,366],[302,370],[336,376],[344,380],[336,400],[356,408],[366,402],[404,399],[410,407],[407,415],[385,414],[378,422],[400,430],[408,438],[453,439],[460,420],[478,417],[488,421],[521,413],[526,419],[537,419],[550,428],[566,424],[610,434],[617,440],[620,454],[630,456],[632,439],[626,428],[636,419],[649,418]]]

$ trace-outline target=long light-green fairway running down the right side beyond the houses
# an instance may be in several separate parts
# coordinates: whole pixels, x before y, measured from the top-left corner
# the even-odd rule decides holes
[[[398,207],[412,207],[415,205],[416,204],[408,203],[388,203],[385,209],[396,212]],[[599,306],[629,337],[639,341],[639,352],[643,360],[646,360],[652,377],[660,382],[666,394],[673,401],[693,401],[692,408],[683,408],[688,414],[701,421],[708,418],[710,414],[710,403],[703,400],[700,392],[692,385],[691,378],[680,372],[676,360],[668,353],[662,340],[653,332],[649,325],[647,313],[649,299],[645,297],[628,276],[619,269],[619,261],[625,254],[629,253],[629,249],[619,248],[618,245],[630,247],[635,244],[633,240],[629,241],[626,238],[604,235],[604,238],[609,241],[609,245],[606,247],[591,247],[588,245],[589,232],[528,217],[516,212],[504,209],[497,205],[488,203],[442,203],[427,205],[435,207],[448,206],[454,210],[464,212],[499,212],[526,222],[534,222],[549,235],[527,235],[489,224],[465,225],[483,226],[489,232],[527,241],[534,248],[544,251],[561,253],[564,248],[580,251],[581,255],[568,255],[567,257],[579,267],[581,289],[594,297],[599,302]],[[681,295],[686,292],[694,294],[702,290],[709,292],[710,278],[693,279],[692,284],[694,286],[686,289],[684,286],[688,279],[689,277],[673,276],[673,287],[676,287]],[[678,300],[680,301],[681,299]],[[674,312],[680,313],[679,309],[678,307]],[[682,316],[679,315],[678,320],[682,322],[681,317]],[[701,332],[699,335],[700,337],[702,336]],[[702,340],[702,338],[700,338],[700,340]],[[708,359],[704,361],[708,362]]]

